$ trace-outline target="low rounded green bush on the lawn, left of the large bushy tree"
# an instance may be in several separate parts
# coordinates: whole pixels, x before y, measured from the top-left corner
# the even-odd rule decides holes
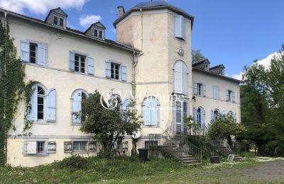
[[[58,162],[60,168],[84,169],[87,168],[87,159],[72,155]]]

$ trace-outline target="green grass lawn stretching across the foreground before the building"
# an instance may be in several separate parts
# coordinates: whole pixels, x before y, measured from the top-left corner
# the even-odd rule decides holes
[[[93,157],[88,158],[81,169],[78,163],[80,161],[75,160],[35,168],[0,168],[0,183],[251,183],[257,178],[244,178],[242,173],[232,174],[226,171],[242,171],[267,162],[249,159],[242,163],[185,166],[168,159],[143,162],[126,157]]]

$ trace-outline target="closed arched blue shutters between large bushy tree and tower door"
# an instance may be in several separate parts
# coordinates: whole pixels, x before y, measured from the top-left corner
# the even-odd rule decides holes
[[[158,125],[158,100],[150,96],[146,98],[142,103],[143,109],[143,122],[147,126],[157,126]]]

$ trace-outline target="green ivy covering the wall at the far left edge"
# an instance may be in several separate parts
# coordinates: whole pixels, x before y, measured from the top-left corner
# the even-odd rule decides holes
[[[0,166],[6,163],[7,134],[22,99],[25,69],[17,57],[9,28],[0,21]]]

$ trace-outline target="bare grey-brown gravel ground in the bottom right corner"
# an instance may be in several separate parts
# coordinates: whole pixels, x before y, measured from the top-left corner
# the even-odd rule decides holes
[[[284,161],[273,161],[263,163],[249,169],[241,170],[222,170],[215,173],[219,176],[226,175],[232,178],[239,178],[242,181],[260,181],[260,182],[284,182]]]

